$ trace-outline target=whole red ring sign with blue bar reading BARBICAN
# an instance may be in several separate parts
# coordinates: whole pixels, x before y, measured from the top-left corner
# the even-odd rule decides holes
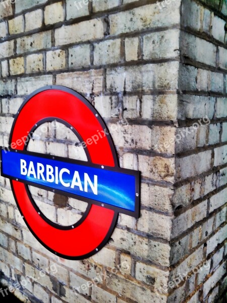
[[[106,135],[96,144],[86,144],[88,161],[27,151],[31,133],[54,120],[69,127],[81,142],[99,132]],[[103,120],[74,90],[46,86],[28,96],[15,118],[9,145],[1,148],[1,174],[11,180],[28,228],[55,255],[88,258],[106,244],[119,213],[139,217],[139,172],[119,167]],[[71,226],[53,223],[35,204],[28,185],[86,201],[88,208]]]

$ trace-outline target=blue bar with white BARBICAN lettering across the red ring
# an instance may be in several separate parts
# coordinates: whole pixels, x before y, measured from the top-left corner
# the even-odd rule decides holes
[[[127,174],[128,170],[112,171],[91,167],[88,162],[83,165],[82,162],[77,164],[68,159],[52,160],[43,156],[2,150],[3,175],[18,178],[34,186],[41,185],[71,196],[75,194],[113,207],[135,211],[136,177],[132,172]]]

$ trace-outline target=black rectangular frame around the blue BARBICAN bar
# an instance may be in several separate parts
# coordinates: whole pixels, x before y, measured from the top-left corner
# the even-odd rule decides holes
[[[129,215],[129,216],[134,217],[134,218],[139,218],[139,178],[140,178],[139,171],[134,171],[134,170],[131,170],[131,169],[125,169],[125,168],[120,168],[120,167],[117,167],[117,168],[116,167],[110,167],[110,166],[104,167],[102,165],[94,164],[94,163],[87,162],[87,161],[80,161],[80,160],[74,160],[74,159],[70,159],[70,158],[33,153],[32,151],[27,151],[27,150],[17,150],[16,151],[16,149],[12,149],[12,148],[9,148],[9,149],[10,149],[9,151],[12,151],[13,153],[17,153],[17,154],[21,154],[21,155],[35,156],[35,157],[39,157],[39,158],[43,158],[43,159],[56,160],[56,161],[61,161],[61,162],[66,162],[66,163],[71,163],[71,164],[78,164],[78,165],[82,165],[84,167],[87,166],[87,167],[94,167],[94,168],[99,168],[99,169],[101,168],[103,170],[106,169],[108,171],[120,172],[120,173],[124,173],[124,174],[127,174],[127,175],[134,176],[135,177],[135,191],[136,192],[135,192],[135,211],[133,212],[133,211],[125,210],[125,209],[120,208],[120,207],[111,206],[111,205],[106,204],[104,202],[99,202],[99,201],[96,201],[96,200],[93,200],[93,199],[90,199],[90,198],[82,197],[80,195],[68,193],[66,191],[62,191],[62,190],[59,190],[59,189],[53,189],[52,187],[48,187],[48,186],[45,186],[45,185],[39,185],[35,182],[30,182],[30,181],[26,181],[26,180],[23,180],[23,179],[20,179],[20,178],[12,177],[10,175],[7,175],[7,174],[3,173],[3,162],[2,162],[2,166],[1,166],[1,175],[5,178],[9,178],[11,180],[19,181],[19,182],[22,182],[24,184],[31,185],[31,186],[41,188],[41,189],[45,189],[45,190],[48,190],[48,191],[51,191],[51,192],[54,192],[54,193],[62,194],[64,196],[68,196],[68,197],[71,197],[71,198],[76,198],[78,200],[82,200],[82,201],[88,203],[88,205],[95,204],[95,205],[98,205],[98,206],[105,207],[107,209],[116,211],[116,212],[121,213],[121,214],[126,214],[126,215]],[[4,151],[2,146],[0,146],[0,150],[1,150],[1,157],[2,157],[2,153]],[[58,224],[54,224],[54,227],[56,227],[56,226],[59,227]],[[64,229],[72,229],[72,226],[70,226],[68,228],[64,228]]]

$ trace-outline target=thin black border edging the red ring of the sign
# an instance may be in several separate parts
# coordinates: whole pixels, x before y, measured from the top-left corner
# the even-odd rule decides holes
[[[22,110],[22,108],[25,106],[25,104],[26,104],[33,96],[35,96],[35,95],[38,94],[39,92],[42,92],[42,91],[45,91],[45,90],[51,90],[51,89],[57,89],[57,90],[66,91],[66,92],[68,92],[68,93],[70,93],[70,94],[76,96],[77,98],[79,98],[79,99],[80,99],[80,100],[81,100],[81,101],[82,101],[82,102],[83,102],[83,103],[84,103],[84,104],[85,104],[85,105],[86,105],[86,106],[95,114],[96,118],[98,119],[98,121],[99,121],[99,123],[101,124],[101,126],[103,127],[103,129],[106,129],[106,131],[108,132],[107,126],[106,126],[105,122],[103,121],[103,119],[101,118],[101,116],[98,114],[98,112],[96,111],[96,109],[90,104],[90,102],[89,102],[86,98],[84,98],[81,94],[79,94],[79,93],[76,92],[75,90],[73,90],[73,89],[71,89],[71,88],[68,88],[68,87],[66,87],[66,86],[62,86],[62,85],[47,85],[47,86],[44,86],[44,87],[41,87],[41,88],[35,90],[34,92],[32,92],[31,94],[29,94],[29,95],[25,98],[24,102],[22,103],[21,107],[19,108],[19,110],[18,110],[18,112],[17,112],[17,114],[16,114],[16,116],[15,116],[15,119],[14,119],[14,122],[13,122],[13,125],[12,125],[12,128],[11,128],[11,133],[10,133],[10,138],[9,138],[9,146],[10,146],[11,143],[12,143],[11,141],[12,141],[12,136],[13,136],[13,129],[14,129],[14,126],[15,126],[15,123],[16,123],[16,120],[17,120],[17,117],[18,117],[18,115],[20,114],[20,111]],[[51,117],[50,117],[50,118],[51,118]],[[49,119],[49,118],[48,118],[48,119]],[[47,119],[47,120],[48,120],[48,119]],[[44,120],[44,119],[42,119],[42,120]],[[51,121],[52,121],[52,120],[51,120]],[[40,121],[40,122],[41,122],[41,121]],[[38,124],[39,124],[39,122],[37,123],[37,125],[38,125]],[[34,129],[36,129],[36,127],[38,127],[38,126],[34,126]],[[72,131],[78,136],[78,133],[76,132],[75,128],[73,128]],[[30,131],[30,132],[31,132],[31,131]],[[80,137],[80,136],[79,136],[79,137]],[[109,132],[108,132],[107,140],[108,140],[108,142],[109,142],[109,146],[110,146],[111,151],[112,151],[112,156],[113,156],[113,160],[114,160],[114,162],[115,162],[115,167],[116,167],[116,168],[120,168],[120,166],[119,166],[119,164],[118,164],[118,158],[117,158],[117,153],[116,153],[115,145],[113,144],[113,141],[112,141],[112,138],[111,138],[111,135],[109,134]],[[25,146],[24,151],[26,151],[26,148],[27,148],[27,146]],[[88,151],[85,150],[85,152],[86,152],[86,154],[88,154]],[[0,156],[1,156],[1,155],[0,155]],[[89,154],[88,154],[88,156],[89,156]],[[88,157],[88,159],[90,160],[90,157]],[[1,167],[2,167],[2,166],[1,166]],[[1,169],[2,169],[2,168],[1,168]],[[139,203],[139,200],[140,200],[140,172],[139,172],[139,171],[138,171],[138,176],[139,176],[139,183],[138,183],[138,193],[139,193],[139,197],[138,197],[138,206],[137,206],[137,209],[138,209],[138,217],[139,217],[139,214],[140,214],[140,203]],[[56,251],[54,251],[53,249],[51,249],[50,247],[48,247],[44,242],[42,242],[42,241],[36,236],[36,234],[33,232],[33,230],[30,228],[30,226],[29,226],[27,220],[24,218],[23,213],[22,213],[22,211],[21,211],[21,209],[20,209],[20,206],[19,206],[19,204],[18,204],[18,201],[17,201],[17,198],[16,198],[16,194],[15,194],[15,191],[14,191],[14,187],[13,187],[13,181],[10,180],[10,183],[11,183],[11,188],[12,188],[12,191],[13,191],[13,195],[14,195],[14,198],[15,198],[15,201],[16,201],[16,204],[17,204],[17,207],[18,207],[18,209],[19,209],[19,211],[20,211],[20,213],[21,213],[21,216],[22,216],[22,218],[24,219],[24,221],[25,221],[25,223],[26,223],[28,229],[30,230],[30,232],[31,232],[31,233],[33,234],[33,236],[37,239],[37,241],[38,241],[39,243],[41,243],[47,250],[49,250],[49,251],[52,252],[54,255],[59,256],[59,257],[61,257],[61,258],[64,258],[64,259],[67,259],[67,260],[83,260],[83,259],[87,259],[87,258],[89,258],[89,257],[91,257],[91,256],[93,256],[93,255],[95,255],[95,254],[96,254],[102,247],[104,247],[105,244],[108,242],[109,238],[111,237],[111,234],[112,234],[113,230],[115,229],[115,227],[116,227],[116,225],[117,225],[117,220],[118,220],[118,215],[119,215],[119,213],[118,213],[118,212],[115,212],[115,214],[114,214],[114,216],[113,216],[113,219],[112,219],[111,226],[110,226],[110,228],[109,228],[109,231],[108,231],[108,233],[106,234],[106,236],[105,236],[105,238],[103,239],[103,241],[98,245],[98,247],[96,247],[94,250],[90,251],[88,254],[85,254],[85,255],[82,255],[82,256],[77,256],[77,257],[75,257],[75,256],[62,255],[62,254],[60,254],[59,252],[56,252]],[[25,186],[26,186],[27,193],[28,193],[28,195],[29,195],[29,197],[30,197],[30,199],[31,199],[31,203],[36,207],[36,211],[38,211],[38,210],[39,210],[39,209],[38,209],[38,206],[35,204],[35,201],[33,200],[32,196],[31,196],[31,193],[30,193],[30,191],[29,191],[29,189],[28,189],[28,185],[25,184]],[[75,227],[76,227],[77,225],[81,224],[81,223],[85,220],[86,215],[88,214],[88,212],[89,212],[89,210],[90,210],[90,207],[91,207],[91,205],[88,206],[88,208],[87,208],[87,210],[85,211],[83,217],[75,224]],[[40,214],[41,214],[41,212],[40,212]],[[44,220],[46,220],[46,222],[47,222],[48,224],[50,224],[50,223],[54,224],[52,221],[50,221],[49,219],[47,219],[44,215],[43,215],[43,217],[44,217]],[[59,225],[59,224],[56,224],[56,225],[57,225],[57,226],[55,226],[55,227],[57,227],[57,228],[60,228],[60,227],[61,227],[61,225]],[[64,227],[64,226],[63,226],[63,228],[67,228],[67,229],[68,229],[68,227]],[[71,226],[71,228],[72,228],[72,226]]]

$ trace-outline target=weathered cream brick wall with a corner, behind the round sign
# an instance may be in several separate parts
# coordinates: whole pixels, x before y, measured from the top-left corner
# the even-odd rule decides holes
[[[65,85],[104,118],[120,166],[142,176],[140,218],[120,215],[105,247],[83,261],[56,257],[37,242],[9,180],[0,177],[5,287],[19,283],[18,297],[44,303],[208,303],[222,297],[226,2],[7,0],[0,18],[0,145],[8,145],[29,93]],[[40,126],[28,148],[86,161],[78,138],[59,123]],[[81,201],[30,191],[59,224],[75,223],[86,210]]]

